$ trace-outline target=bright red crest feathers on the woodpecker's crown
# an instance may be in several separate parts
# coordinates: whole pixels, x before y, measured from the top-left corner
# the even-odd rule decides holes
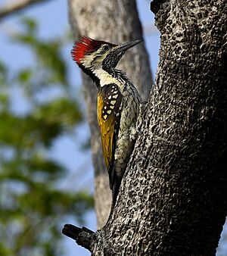
[[[83,36],[81,41],[75,42],[73,45],[73,50],[71,51],[73,61],[76,61],[77,64],[80,64],[81,60],[87,53],[96,51],[104,43],[110,44],[109,42],[98,41]]]

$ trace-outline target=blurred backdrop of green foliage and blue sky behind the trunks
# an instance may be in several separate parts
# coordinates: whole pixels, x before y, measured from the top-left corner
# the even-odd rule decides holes
[[[19,0],[18,0],[19,1]],[[94,173],[67,1],[3,14],[0,1],[0,255],[89,255],[64,223],[96,230]],[[138,0],[145,45],[158,64],[150,1]],[[227,231],[217,250],[227,255]]]

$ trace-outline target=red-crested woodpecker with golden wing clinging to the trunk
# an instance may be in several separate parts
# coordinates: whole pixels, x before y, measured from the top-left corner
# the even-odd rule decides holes
[[[125,54],[142,40],[115,45],[82,37],[75,42],[71,55],[98,88],[98,124],[104,162],[109,174],[114,207],[120,183],[135,145],[136,120],[141,96],[123,70],[116,66]]]

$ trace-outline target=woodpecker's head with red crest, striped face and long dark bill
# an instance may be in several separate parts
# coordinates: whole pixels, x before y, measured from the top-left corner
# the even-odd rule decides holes
[[[75,42],[71,54],[76,64],[85,70],[94,71],[100,68],[108,70],[116,67],[126,50],[139,42],[142,40],[114,45],[84,36],[81,41]]]

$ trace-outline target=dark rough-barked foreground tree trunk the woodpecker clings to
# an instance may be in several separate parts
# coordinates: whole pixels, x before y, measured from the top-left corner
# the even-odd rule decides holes
[[[227,1],[155,2],[156,82],[92,255],[215,255],[225,223]]]

